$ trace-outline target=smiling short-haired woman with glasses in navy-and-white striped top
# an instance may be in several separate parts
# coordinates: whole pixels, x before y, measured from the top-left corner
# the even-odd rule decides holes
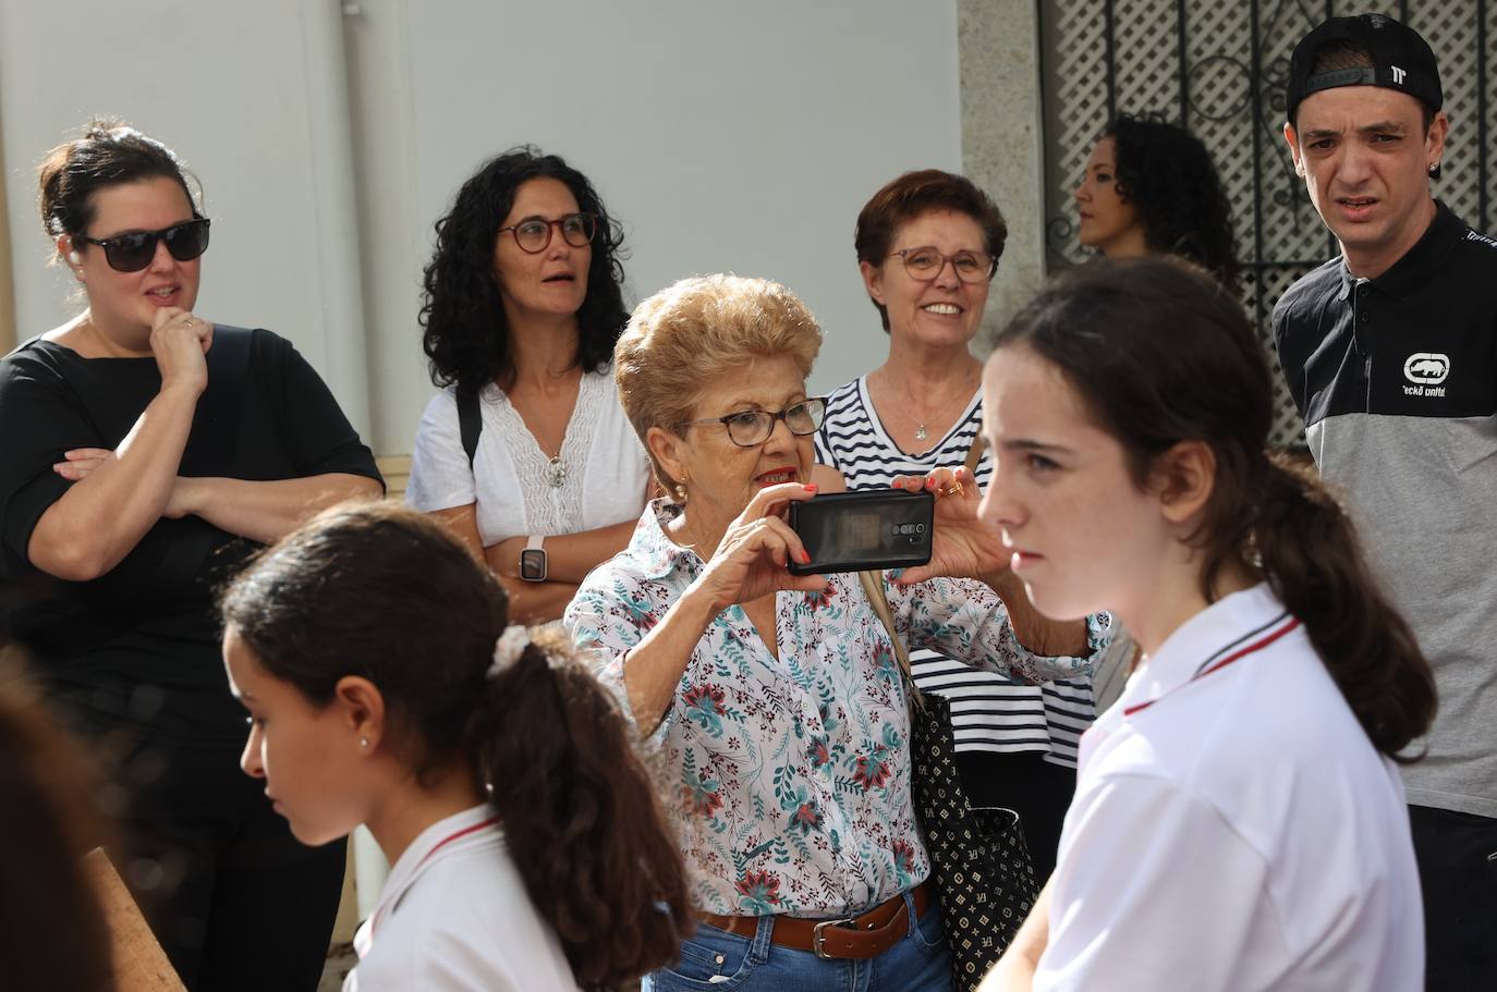
[[[828,398],[816,458],[835,471],[819,477],[823,489],[886,488],[895,476],[925,476],[973,453],[982,364],[969,346],[1006,238],[993,200],[970,180],[939,169],[898,177],[862,208],[858,266],[889,335],[889,356]],[[985,488],[991,458],[969,465]],[[1028,610],[1024,591],[1012,593],[1004,595],[1009,607]],[[1027,646],[1042,654],[1081,649],[1081,624],[1046,627],[1052,643]],[[922,690],[951,700],[969,799],[1018,809],[1036,874],[1045,878],[1075,790],[1076,742],[1094,717],[1091,681],[1019,684],[924,649],[910,663]]]

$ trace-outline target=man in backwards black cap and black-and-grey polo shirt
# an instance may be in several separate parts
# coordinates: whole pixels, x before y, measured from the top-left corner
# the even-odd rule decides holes
[[[1497,241],[1430,195],[1440,70],[1391,18],[1331,18],[1289,63],[1284,139],[1341,256],[1274,308],[1322,476],[1434,667],[1406,766],[1427,988],[1497,989]]]

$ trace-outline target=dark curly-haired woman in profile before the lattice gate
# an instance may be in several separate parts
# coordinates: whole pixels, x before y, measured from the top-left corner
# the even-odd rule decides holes
[[[1075,196],[1088,248],[1109,259],[1178,254],[1243,292],[1232,202],[1211,153],[1183,127],[1120,115],[1091,148]]]

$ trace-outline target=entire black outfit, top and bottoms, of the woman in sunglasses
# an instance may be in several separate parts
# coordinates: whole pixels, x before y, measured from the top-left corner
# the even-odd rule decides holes
[[[114,857],[189,989],[314,989],[343,845],[307,848],[238,768],[214,590],[257,545],[160,519],[106,575],[66,582],[27,557],[73,483],[73,447],[114,449],[160,392],[151,358],[87,359],[33,338],[0,359],[0,606],[48,696],[105,766]],[[268,331],[217,328],[178,474],[379,480],[320,377]]]

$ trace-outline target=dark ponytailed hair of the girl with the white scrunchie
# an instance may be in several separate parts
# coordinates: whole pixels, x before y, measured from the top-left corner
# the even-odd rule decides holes
[[[419,576],[416,579],[415,576]],[[466,763],[531,905],[582,989],[675,961],[686,868],[612,697],[560,631],[490,676],[509,622],[493,573],[439,521],[392,503],[325,510],[225,590],[223,621],[313,706],[358,675],[416,777]]]

